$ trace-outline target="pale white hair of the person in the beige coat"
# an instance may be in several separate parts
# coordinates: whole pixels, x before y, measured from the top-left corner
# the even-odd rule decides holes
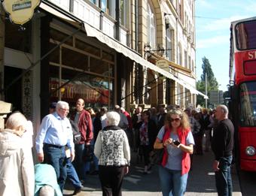
[[[20,127],[26,128],[26,125],[26,117],[20,112],[15,112],[7,119],[5,128],[19,130]]]

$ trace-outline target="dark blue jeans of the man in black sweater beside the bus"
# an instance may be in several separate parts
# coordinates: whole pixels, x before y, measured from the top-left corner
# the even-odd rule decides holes
[[[215,183],[218,191],[218,196],[231,196],[233,187],[230,166],[232,155],[228,157],[221,157],[218,167],[220,170],[215,171]]]

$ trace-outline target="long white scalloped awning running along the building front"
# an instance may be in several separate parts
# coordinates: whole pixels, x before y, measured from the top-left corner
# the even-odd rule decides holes
[[[131,50],[129,47],[126,47],[114,38],[105,35],[105,33],[99,31],[93,26],[90,26],[88,23],[82,22],[81,20],[74,17],[72,14],[63,13],[63,11],[60,12],[55,8],[50,7],[50,5],[46,5],[44,2],[41,2],[40,8],[44,9],[44,11],[47,11],[50,14],[55,15],[56,17],[61,18],[62,20],[66,20],[69,23],[72,23],[75,26],[80,26],[81,23],[83,23],[84,30],[87,33],[87,36],[97,38],[99,41],[108,45],[108,47],[111,47],[112,49],[116,50],[118,53],[122,53],[124,56],[139,63],[139,65],[145,66],[146,68],[150,68],[153,71],[157,71],[159,74],[162,74],[164,77],[167,77],[171,80],[175,80],[175,82],[181,84],[181,86],[184,86],[186,89],[190,90],[191,94],[202,95],[204,98],[208,98],[207,95],[204,95],[202,92],[197,91],[197,89],[195,89],[194,86],[191,86],[189,83],[186,83],[178,77],[175,77],[168,71],[164,71],[163,69],[158,68],[156,65],[152,64],[151,62],[148,62],[146,59],[143,59],[142,56],[139,55],[139,53],[136,53],[136,51]]]

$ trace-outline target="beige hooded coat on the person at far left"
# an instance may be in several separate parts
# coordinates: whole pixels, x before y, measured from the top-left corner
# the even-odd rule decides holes
[[[0,195],[32,196],[34,188],[31,145],[10,129],[0,130]]]

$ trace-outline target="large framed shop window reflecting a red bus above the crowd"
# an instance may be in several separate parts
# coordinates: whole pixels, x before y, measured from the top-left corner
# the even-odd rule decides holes
[[[50,48],[61,41],[58,32],[50,31]],[[114,54],[79,38],[69,40],[49,56],[50,101],[67,101],[71,110],[78,98],[84,99],[85,107],[110,107],[114,101]]]

